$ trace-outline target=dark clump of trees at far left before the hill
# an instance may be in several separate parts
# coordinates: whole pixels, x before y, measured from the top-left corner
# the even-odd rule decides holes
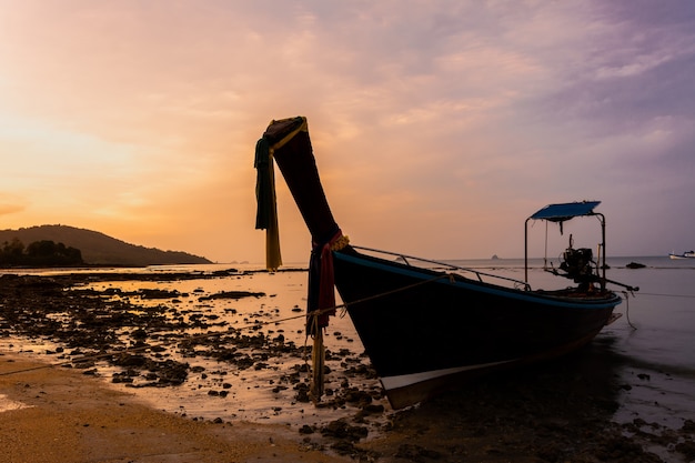
[[[18,238],[0,246],[0,266],[58,266],[82,264],[82,252],[50,240],[31,242],[24,246]]]

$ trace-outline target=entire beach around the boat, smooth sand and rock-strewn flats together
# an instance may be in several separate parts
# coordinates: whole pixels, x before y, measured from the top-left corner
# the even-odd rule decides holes
[[[133,284],[165,280],[165,285],[145,293],[131,288],[128,296],[112,283],[94,286],[94,281],[131,281],[132,275],[0,278],[0,462],[695,460],[693,420],[682,420],[675,430],[639,416],[613,421],[620,394],[646,380],[634,378],[629,384],[618,379],[622,359],[605,349],[611,338],[556,362],[483,379],[400,411],[384,406],[369,359],[341,349],[328,374],[332,395],[315,405],[301,400],[305,380],[294,373],[301,349],[290,342],[289,328],[280,333],[269,322],[268,332],[254,330],[252,338],[225,331],[224,338],[193,343],[190,333],[214,329],[212,322],[219,324],[225,311],[230,324],[251,315],[241,313],[236,300],[239,312],[229,301],[211,305],[219,301],[211,296],[221,292],[200,292],[195,299],[174,293],[172,281],[187,278],[140,275]],[[229,295],[230,288],[254,292],[272,281],[285,292],[304,291],[292,274],[225,274],[214,283],[223,283]],[[197,280],[190,288],[205,284]],[[143,294],[162,299],[154,303]],[[272,321],[284,311],[294,313],[296,304],[282,294],[252,296],[252,316]],[[349,336],[332,331],[330,342],[341,338]],[[52,343],[48,351],[41,344],[47,340]],[[141,350],[124,351],[133,345]],[[80,361],[104,351],[111,353]],[[232,392],[221,397],[225,391]],[[187,401],[193,399],[202,403],[200,413],[190,412],[193,405]],[[260,412],[242,411],[254,406]]]

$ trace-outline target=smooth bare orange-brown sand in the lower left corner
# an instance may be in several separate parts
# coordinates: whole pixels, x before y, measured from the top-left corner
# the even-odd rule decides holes
[[[0,353],[0,462],[345,462],[285,426],[187,420],[71,369]],[[16,370],[39,368],[16,374]]]

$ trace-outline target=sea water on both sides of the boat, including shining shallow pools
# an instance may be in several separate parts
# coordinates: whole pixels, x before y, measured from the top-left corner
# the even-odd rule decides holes
[[[627,264],[631,262],[645,266],[629,269]],[[447,263],[520,281],[525,279],[523,259],[447,261]],[[646,422],[678,429],[685,420],[695,420],[695,260],[671,260],[668,256],[613,258],[608,259],[607,263],[608,279],[639,288],[633,293],[623,286],[612,285],[612,289],[621,292],[624,298],[623,303],[616,308],[616,313],[623,316],[606,326],[592,344],[592,354],[598,361],[605,362],[605,365],[597,368],[614,372],[624,385],[621,389],[620,407],[614,421],[627,423],[639,417]],[[555,266],[557,264],[554,262]],[[296,266],[301,269],[302,265]],[[543,266],[542,260],[530,261],[528,283],[533,289],[551,290],[572,284],[570,280],[545,272]],[[114,269],[113,272],[180,273],[230,268],[260,270],[259,265],[215,264],[153,266],[145,270]],[[302,345],[306,340],[302,314],[306,305],[305,271],[259,272],[243,276],[200,280],[100,282],[93,284],[93,288],[98,290],[121,288],[124,291],[150,288],[197,295],[233,290],[264,292],[265,295],[262,298],[238,301],[212,300],[204,304],[191,296],[177,301],[175,304],[179,310],[188,312],[215,313],[220,320],[229,323],[228,326],[244,328],[262,322],[263,328],[260,332],[269,336],[282,333],[286,341],[296,345]],[[131,302],[171,303],[160,300]],[[234,316],[230,314],[231,309]],[[40,352],[43,348],[52,348],[42,343],[46,341],[4,339],[0,343],[0,349]],[[359,356],[363,348],[349,316],[336,316],[331,320],[325,343],[326,348],[333,351],[349,350],[354,354],[355,362],[369,362]],[[158,409],[205,419],[318,424],[339,419],[341,414],[350,412],[316,409],[312,404],[298,403],[291,390],[278,392],[276,379],[286,372],[290,365],[303,362],[302,359],[278,359],[273,361],[274,363],[271,362],[268,369],[260,371],[234,371],[233,368],[221,365],[219,362],[199,358],[180,360],[190,362],[191,366],[204,368],[207,373],[189,375],[187,384],[181,387],[157,390],[143,387],[134,390],[137,394]],[[341,362],[333,362],[330,366],[335,372],[342,368]],[[100,374],[108,379],[113,373],[111,370],[110,366],[102,364]],[[219,373],[219,378],[213,372]],[[339,378],[336,381],[343,380]],[[223,382],[234,384],[232,393],[224,400],[210,399],[207,391],[219,389]],[[363,382],[355,385],[379,386],[376,380]],[[386,404],[385,400],[383,403]]]

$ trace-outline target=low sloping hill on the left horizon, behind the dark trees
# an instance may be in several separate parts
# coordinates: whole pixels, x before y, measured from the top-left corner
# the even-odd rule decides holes
[[[0,230],[0,244],[20,240],[24,245],[34,241],[49,240],[77,248],[82,252],[85,264],[91,265],[162,265],[187,263],[211,263],[205,258],[182,251],[162,251],[130,244],[103,233],[68,225],[40,225],[19,230]]]

